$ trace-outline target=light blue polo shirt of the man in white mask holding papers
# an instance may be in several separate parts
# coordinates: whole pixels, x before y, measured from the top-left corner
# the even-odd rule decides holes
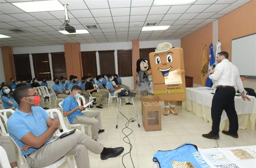
[[[70,111],[76,107],[78,107],[77,100],[73,99],[72,96],[69,95],[64,99],[62,104],[63,111]],[[82,115],[83,113],[81,113],[81,111],[77,109],[72,114],[68,115],[67,118],[69,119],[70,123],[73,123],[75,116],[82,116]]]

